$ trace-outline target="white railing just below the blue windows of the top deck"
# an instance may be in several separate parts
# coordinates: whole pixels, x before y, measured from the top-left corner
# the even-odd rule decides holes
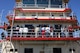
[[[16,3],[16,8],[28,8],[28,7],[37,7],[37,8],[67,8],[67,6],[64,5],[49,5],[49,4],[22,4],[22,3]]]

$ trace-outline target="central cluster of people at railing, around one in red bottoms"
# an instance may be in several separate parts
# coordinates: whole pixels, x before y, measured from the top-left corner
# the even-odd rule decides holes
[[[44,35],[46,36],[53,36],[53,27],[49,27],[49,26],[42,26],[42,27],[35,27],[35,35],[37,37],[37,35],[42,35],[42,37],[44,37]]]

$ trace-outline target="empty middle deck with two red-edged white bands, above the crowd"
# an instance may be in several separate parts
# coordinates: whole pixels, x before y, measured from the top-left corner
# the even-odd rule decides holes
[[[7,19],[14,23],[72,23],[77,24],[77,18],[70,15],[70,9],[16,9],[15,16],[8,15]]]

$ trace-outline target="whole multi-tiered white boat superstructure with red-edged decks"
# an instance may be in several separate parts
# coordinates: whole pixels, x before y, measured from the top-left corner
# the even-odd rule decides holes
[[[69,0],[15,0],[2,53],[79,53],[80,26]],[[2,34],[4,35],[4,34]],[[4,36],[3,36],[4,37]]]

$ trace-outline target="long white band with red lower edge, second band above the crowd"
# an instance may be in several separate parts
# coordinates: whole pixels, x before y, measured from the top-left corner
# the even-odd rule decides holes
[[[15,16],[15,19],[33,19],[33,18],[37,18],[37,19],[75,19],[75,17],[64,17],[64,16]]]

